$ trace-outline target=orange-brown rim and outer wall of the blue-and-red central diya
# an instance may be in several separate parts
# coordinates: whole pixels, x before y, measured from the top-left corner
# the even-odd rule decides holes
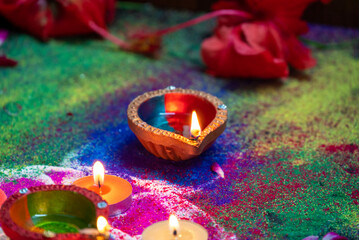
[[[155,126],[148,124],[143,119],[141,119],[139,115],[139,108],[144,102],[152,98],[164,96],[166,94],[171,94],[171,93],[182,93],[182,94],[193,95],[197,98],[204,99],[215,108],[216,113],[213,120],[201,131],[201,134],[196,139],[190,139],[178,133],[157,128]],[[177,161],[177,160],[186,160],[188,158],[199,155],[204,148],[207,148],[208,146],[204,146],[204,145],[210,145],[224,131],[225,125],[227,123],[228,111],[227,111],[227,106],[220,99],[209,93],[198,91],[198,90],[183,89],[183,88],[176,88],[170,86],[165,89],[146,92],[136,97],[128,106],[127,118],[131,130],[134,131],[136,136],[140,139],[141,143],[145,147],[147,145],[146,149],[154,154],[155,152],[158,151],[151,151],[149,148],[153,149],[156,148],[157,146],[149,147],[148,144],[144,143],[146,142],[144,138],[147,138],[148,140],[149,138],[158,139],[158,138],[168,137],[168,139],[175,140],[181,144],[184,144],[184,146],[189,147],[192,153],[187,154],[187,156],[184,157],[178,157],[178,155],[181,155],[181,153],[177,154],[176,157],[168,156],[168,154],[166,153],[155,154],[155,155],[159,155],[164,159],[171,159]],[[146,135],[150,137],[146,137]],[[211,136],[210,137],[211,139],[208,139],[209,136]],[[168,149],[166,148],[165,151],[168,151]]]

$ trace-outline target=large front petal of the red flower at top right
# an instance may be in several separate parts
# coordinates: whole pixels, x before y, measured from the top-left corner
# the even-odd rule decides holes
[[[251,35],[258,32],[258,28],[262,28],[263,25],[246,23],[244,30],[242,25],[235,28],[222,26],[216,31],[215,36],[203,41],[201,54],[209,71],[222,77],[288,76],[285,60],[277,57],[281,55],[277,51],[280,48],[275,40],[277,36],[267,31],[267,34],[262,35],[262,39],[255,42]],[[250,43],[247,42],[246,33],[249,33]],[[270,46],[270,49],[266,46]],[[277,56],[273,56],[271,51]]]

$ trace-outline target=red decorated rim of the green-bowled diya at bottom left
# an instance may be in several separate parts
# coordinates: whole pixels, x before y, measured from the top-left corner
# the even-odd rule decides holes
[[[96,209],[96,218],[99,216],[108,217],[109,207],[105,200],[103,200],[98,194],[87,190],[85,188],[81,188],[74,185],[42,185],[35,186],[29,188],[23,188],[17,193],[10,196],[2,205],[0,209],[0,223],[2,224],[2,228],[4,232],[7,234],[8,230],[11,233],[16,233],[18,237],[21,239],[38,239],[38,240],[46,240],[46,239],[56,239],[56,240],[65,240],[65,239],[91,239],[88,235],[82,233],[56,233],[55,236],[49,237],[44,233],[33,232],[28,229],[25,229],[19,225],[17,225],[10,215],[10,208],[22,197],[36,193],[36,192],[46,192],[46,191],[69,191],[73,193],[80,194],[90,200]]]

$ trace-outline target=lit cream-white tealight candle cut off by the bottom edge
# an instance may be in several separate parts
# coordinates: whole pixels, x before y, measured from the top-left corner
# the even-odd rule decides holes
[[[208,232],[201,225],[178,220],[171,215],[169,220],[157,222],[142,233],[142,240],[207,240]]]

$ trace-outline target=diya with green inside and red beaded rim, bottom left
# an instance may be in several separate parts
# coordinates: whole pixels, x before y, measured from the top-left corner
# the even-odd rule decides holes
[[[81,229],[96,228],[108,217],[99,195],[77,186],[45,185],[21,189],[0,210],[0,223],[11,240],[90,240]]]

